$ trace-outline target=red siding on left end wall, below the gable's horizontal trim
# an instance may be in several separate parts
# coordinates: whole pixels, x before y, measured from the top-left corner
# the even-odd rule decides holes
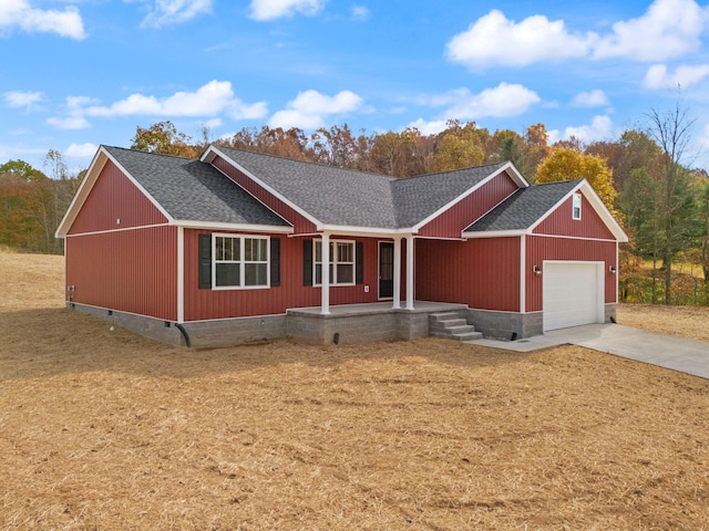
[[[73,301],[175,321],[176,242],[177,228],[167,226],[68,237]]]

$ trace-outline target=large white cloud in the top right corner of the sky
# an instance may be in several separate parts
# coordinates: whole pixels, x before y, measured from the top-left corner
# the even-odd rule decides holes
[[[616,22],[613,34],[598,42],[594,58],[677,58],[699,49],[707,21],[707,9],[695,0],[656,0],[641,17]]]

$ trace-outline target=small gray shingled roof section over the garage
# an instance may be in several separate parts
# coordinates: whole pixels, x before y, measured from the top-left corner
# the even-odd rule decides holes
[[[577,179],[521,188],[463,232],[528,229],[579,183]]]

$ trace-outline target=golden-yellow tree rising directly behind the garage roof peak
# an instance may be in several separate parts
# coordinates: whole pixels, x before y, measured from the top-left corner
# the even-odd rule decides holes
[[[537,184],[572,179],[586,179],[606,208],[618,216],[615,208],[618,192],[613,187],[613,173],[605,159],[569,147],[559,147],[536,170]]]

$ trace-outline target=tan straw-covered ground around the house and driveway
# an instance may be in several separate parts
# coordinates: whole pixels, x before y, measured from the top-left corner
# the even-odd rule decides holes
[[[2,530],[709,530],[709,381],[572,346],[174,348],[62,290],[61,258],[0,253]]]

